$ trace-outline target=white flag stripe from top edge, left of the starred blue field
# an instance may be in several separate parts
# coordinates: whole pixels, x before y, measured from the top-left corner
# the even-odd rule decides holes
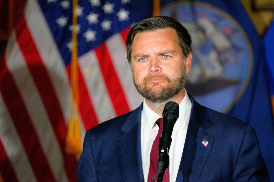
[[[36,0],[29,0],[25,10],[26,22],[42,61],[48,70],[54,90],[61,104],[65,121],[69,119],[70,86],[63,59],[48,24]]]

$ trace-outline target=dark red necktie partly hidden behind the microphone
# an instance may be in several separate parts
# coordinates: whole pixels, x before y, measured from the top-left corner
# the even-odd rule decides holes
[[[149,172],[148,172],[148,182],[152,181],[152,179],[155,177],[156,172],[157,172],[157,162],[159,159],[158,148],[159,148],[159,139],[162,136],[163,118],[157,119],[157,121],[155,123],[159,126],[159,131],[158,131],[158,135],[156,136],[156,138],[152,144],[152,148],[151,148],[151,152],[150,152],[150,166],[149,166]],[[157,180],[155,180],[155,181],[157,181]],[[169,182],[168,168],[165,171],[163,182]]]

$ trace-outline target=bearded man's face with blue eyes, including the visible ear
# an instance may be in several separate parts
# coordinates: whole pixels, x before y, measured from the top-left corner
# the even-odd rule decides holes
[[[186,58],[186,74],[191,54]],[[184,87],[182,49],[172,28],[137,33],[132,43],[131,69],[137,91],[147,100],[160,103]]]

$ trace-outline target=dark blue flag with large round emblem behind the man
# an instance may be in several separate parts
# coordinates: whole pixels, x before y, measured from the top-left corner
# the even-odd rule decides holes
[[[264,49],[241,2],[165,0],[161,15],[176,18],[192,36],[187,92],[200,104],[254,127],[274,180],[274,125]],[[273,76],[273,61],[271,70]]]

